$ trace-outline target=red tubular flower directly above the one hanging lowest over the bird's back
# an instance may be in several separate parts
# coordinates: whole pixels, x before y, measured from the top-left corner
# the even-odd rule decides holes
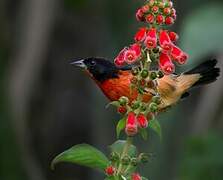
[[[161,48],[163,49],[163,53],[168,53],[172,49],[172,42],[168,33],[164,30],[160,31],[159,43]]]

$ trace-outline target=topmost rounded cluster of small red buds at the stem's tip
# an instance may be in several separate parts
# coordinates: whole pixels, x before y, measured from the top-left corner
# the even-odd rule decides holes
[[[170,0],[150,0],[136,13],[138,21],[152,25],[171,25],[176,20],[176,10]]]

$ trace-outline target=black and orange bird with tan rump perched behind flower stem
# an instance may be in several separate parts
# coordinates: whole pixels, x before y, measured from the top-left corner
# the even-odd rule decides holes
[[[131,89],[132,66],[117,67],[107,59],[94,57],[72,61],[71,64],[83,68],[110,101],[118,101],[123,96],[128,97],[130,102],[137,99],[138,91]],[[157,91],[162,101],[159,111],[188,97],[193,87],[216,81],[220,75],[220,68],[216,65],[216,59],[207,60],[189,71],[157,79]],[[142,100],[149,102],[152,97],[153,94],[148,91]]]

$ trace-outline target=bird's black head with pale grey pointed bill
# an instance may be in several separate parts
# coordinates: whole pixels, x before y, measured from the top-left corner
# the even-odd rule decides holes
[[[71,64],[86,69],[99,82],[118,77],[119,69],[112,62],[103,58],[87,58]]]

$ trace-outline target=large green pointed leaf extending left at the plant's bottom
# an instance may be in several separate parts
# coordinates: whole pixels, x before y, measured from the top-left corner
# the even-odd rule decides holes
[[[53,159],[51,168],[54,169],[55,164],[60,162],[70,162],[99,170],[104,170],[109,164],[109,160],[101,151],[88,144],[73,146],[59,154]]]

